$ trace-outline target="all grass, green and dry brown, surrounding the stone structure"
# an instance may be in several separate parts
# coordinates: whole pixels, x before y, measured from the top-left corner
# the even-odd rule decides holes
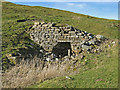
[[[3,87],[27,87],[28,85],[32,88],[117,87],[117,20],[100,19],[45,7],[16,5],[10,2],[3,2],[2,6],[2,66],[3,70],[6,70],[3,73]],[[26,21],[23,22],[24,20]],[[41,47],[31,40],[27,32],[34,25],[34,21],[63,24],[56,27],[68,24],[94,35],[103,35],[110,41],[103,45],[101,52],[95,51],[96,53],[93,54],[84,52],[80,58],[69,62],[43,62],[36,56],[41,53]],[[16,64],[14,56],[20,54],[25,55],[26,57],[21,57],[26,60],[21,59],[21,63]],[[31,84],[35,85],[31,86]]]

